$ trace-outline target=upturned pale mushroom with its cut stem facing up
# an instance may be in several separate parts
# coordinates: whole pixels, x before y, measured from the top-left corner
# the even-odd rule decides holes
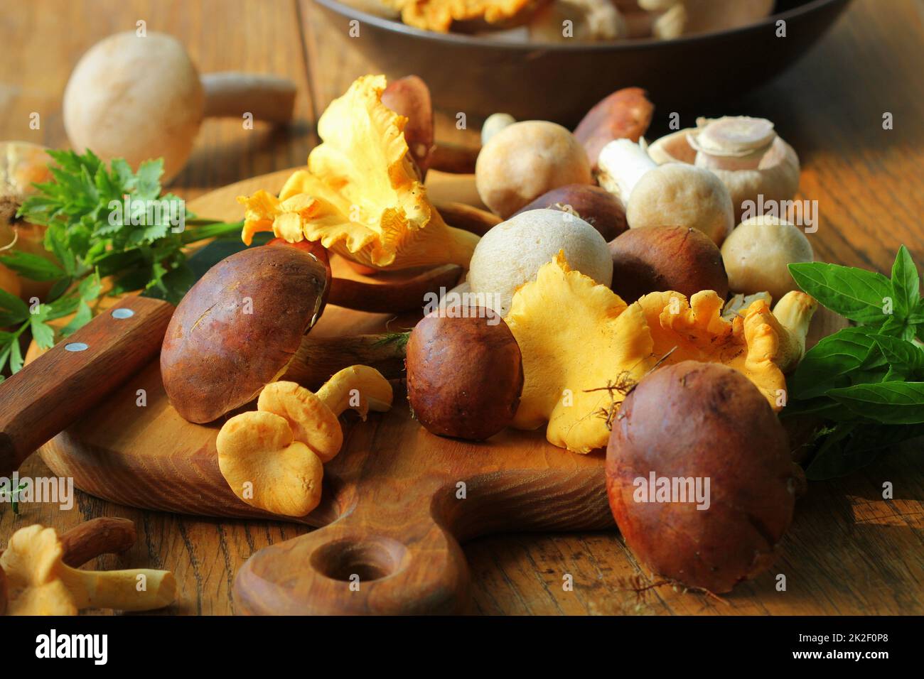
[[[765,203],[792,200],[799,188],[799,159],[763,118],[699,118],[698,127],[654,141],[650,157],[659,164],[707,167],[728,189],[736,223]]]

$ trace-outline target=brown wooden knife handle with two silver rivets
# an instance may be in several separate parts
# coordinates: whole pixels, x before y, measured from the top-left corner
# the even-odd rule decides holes
[[[157,356],[173,311],[126,297],[0,383],[0,476]]]

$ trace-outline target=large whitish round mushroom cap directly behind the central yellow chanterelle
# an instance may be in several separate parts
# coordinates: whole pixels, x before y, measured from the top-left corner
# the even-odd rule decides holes
[[[479,303],[502,317],[520,285],[536,277],[560,250],[570,266],[599,284],[613,282],[613,258],[600,232],[584,220],[559,210],[530,210],[497,224],[481,237],[472,255],[468,285],[485,296]]]

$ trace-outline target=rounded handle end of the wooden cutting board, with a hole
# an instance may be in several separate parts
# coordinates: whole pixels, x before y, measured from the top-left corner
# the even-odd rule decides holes
[[[456,539],[416,498],[402,511],[353,511],[249,558],[235,611],[274,615],[463,612],[468,564]],[[383,508],[382,505],[379,505]],[[396,508],[397,509],[397,508]],[[409,515],[406,513],[409,511]]]

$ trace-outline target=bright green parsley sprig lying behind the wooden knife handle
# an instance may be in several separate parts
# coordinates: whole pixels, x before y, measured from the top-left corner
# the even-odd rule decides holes
[[[52,282],[48,297],[27,304],[0,290],[0,371],[22,368],[20,337],[31,333],[38,346],[55,344],[48,321],[75,314],[58,338],[91,320],[93,301],[103,294],[140,290],[176,304],[194,276],[186,246],[205,238],[240,232],[241,223],[203,220],[171,193],[162,194],[162,159],[140,164],[137,172],[122,159],[105,164],[93,152],[49,151],[54,181],[34,185],[38,192],[19,206],[17,216],[47,226],[44,246],[57,263],[29,252],[0,252],[0,263],[33,281]],[[141,206],[140,212],[121,209]],[[156,211],[144,208],[158,202]],[[116,205],[119,208],[116,208]],[[173,212],[171,212],[173,211]],[[185,228],[176,224],[182,214]],[[173,221],[171,221],[171,216]],[[2,377],[0,377],[2,379]]]

